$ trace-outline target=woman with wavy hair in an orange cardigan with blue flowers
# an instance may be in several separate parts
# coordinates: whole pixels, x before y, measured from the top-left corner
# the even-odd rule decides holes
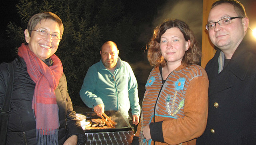
[[[209,81],[205,70],[196,65],[200,48],[188,25],[168,20],[156,27],[148,61],[154,69],[146,83],[133,143],[195,144],[206,127]]]

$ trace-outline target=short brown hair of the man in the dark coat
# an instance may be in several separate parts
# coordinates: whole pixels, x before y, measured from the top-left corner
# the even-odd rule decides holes
[[[238,16],[246,17],[246,12],[245,12],[244,6],[237,0],[219,0],[212,4],[212,8],[214,8],[215,6],[218,6],[220,4],[224,4],[224,3],[232,4],[234,6],[235,12],[236,12],[236,14],[238,14]]]

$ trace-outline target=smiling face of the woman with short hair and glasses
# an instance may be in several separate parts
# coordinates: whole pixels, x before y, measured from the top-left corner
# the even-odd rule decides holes
[[[44,30],[50,34],[60,34],[59,24],[50,19],[41,20],[34,30]],[[24,33],[28,48],[41,60],[44,61],[50,58],[57,51],[60,40],[53,40],[50,34],[41,36],[36,31],[31,31],[31,34],[29,34],[27,29]]]

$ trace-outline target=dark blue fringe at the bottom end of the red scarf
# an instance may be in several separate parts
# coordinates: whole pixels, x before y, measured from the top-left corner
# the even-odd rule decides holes
[[[58,145],[58,129],[42,130],[36,129],[36,144],[37,145]]]

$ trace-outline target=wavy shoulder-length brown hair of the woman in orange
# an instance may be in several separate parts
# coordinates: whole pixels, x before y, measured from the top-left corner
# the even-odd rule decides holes
[[[158,66],[165,67],[167,65],[166,60],[161,54],[160,39],[166,30],[174,27],[180,29],[186,41],[190,40],[190,46],[185,52],[181,63],[184,66],[189,67],[192,64],[198,64],[200,62],[201,51],[193,32],[189,29],[185,22],[175,19],[165,20],[164,23],[160,24],[154,29],[153,36],[146,46],[146,49],[148,50],[148,61],[151,66],[156,68]]]

